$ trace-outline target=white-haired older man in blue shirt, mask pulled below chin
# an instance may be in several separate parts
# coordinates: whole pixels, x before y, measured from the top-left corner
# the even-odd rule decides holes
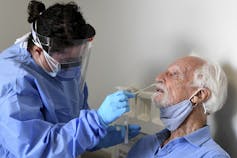
[[[212,139],[207,115],[223,106],[227,78],[220,66],[188,56],[157,76],[152,101],[165,129],[140,139],[128,158],[229,158]]]

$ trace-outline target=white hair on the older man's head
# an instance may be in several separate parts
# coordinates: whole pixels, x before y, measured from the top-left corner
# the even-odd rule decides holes
[[[208,88],[210,98],[203,103],[205,113],[214,113],[222,108],[227,98],[228,81],[224,70],[217,63],[205,63],[194,72],[194,86]]]

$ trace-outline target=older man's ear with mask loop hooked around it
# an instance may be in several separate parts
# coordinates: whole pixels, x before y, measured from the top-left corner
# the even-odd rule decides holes
[[[191,99],[193,105],[198,105],[200,103],[206,102],[211,96],[211,91],[208,88],[202,88],[196,95]]]

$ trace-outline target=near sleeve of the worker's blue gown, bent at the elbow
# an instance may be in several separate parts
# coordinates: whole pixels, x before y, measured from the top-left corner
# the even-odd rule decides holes
[[[77,157],[106,135],[96,111],[85,106],[78,118],[53,124],[32,81],[0,80],[0,145],[14,157]]]

